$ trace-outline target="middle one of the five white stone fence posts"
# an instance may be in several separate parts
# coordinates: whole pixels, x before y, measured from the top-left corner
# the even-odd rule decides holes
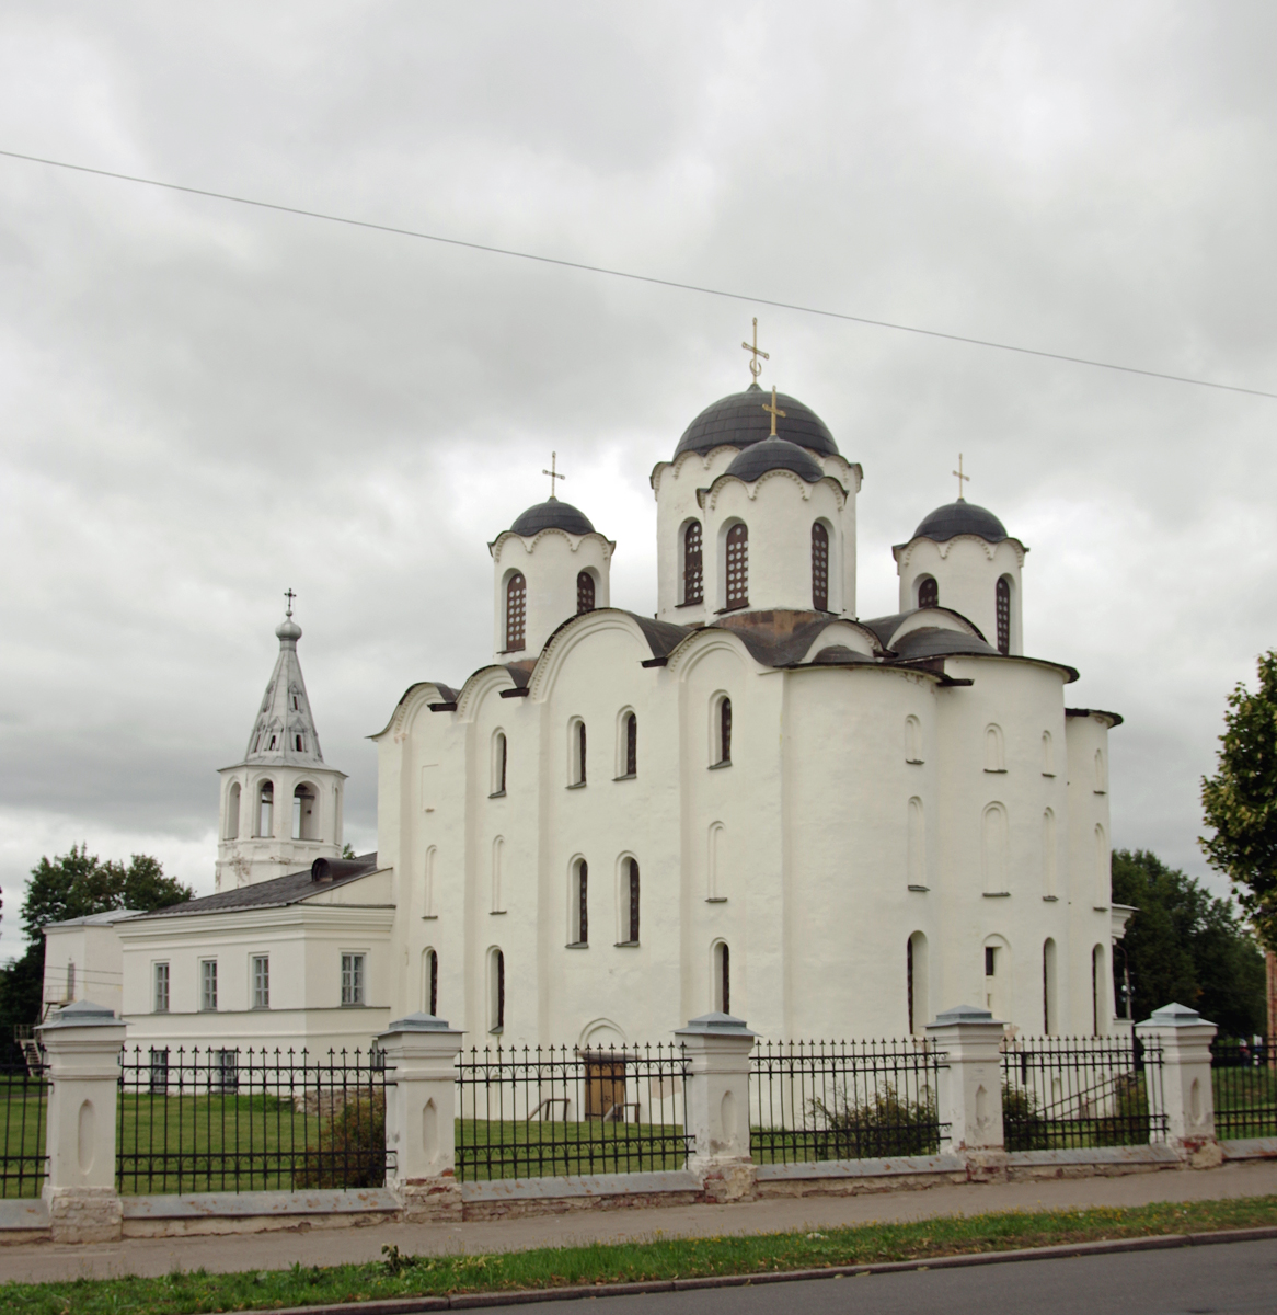
[[[730,1014],[702,1014],[674,1034],[684,1048],[684,1127],[692,1136],[687,1168],[712,1202],[749,1201],[749,1056],[754,1034]]]

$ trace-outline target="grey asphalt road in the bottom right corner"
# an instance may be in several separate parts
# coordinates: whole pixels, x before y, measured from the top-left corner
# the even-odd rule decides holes
[[[573,1302],[573,1306],[577,1303]],[[515,1310],[516,1307],[506,1307]],[[541,1307],[545,1310],[547,1307]],[[552,1307],[550,1307],[552,1308]],[[527,1307],[518,1307],[526,1315]],[[1277,1241],[607,1298],[596,1315],[1251,1315],[1277,1311]]]

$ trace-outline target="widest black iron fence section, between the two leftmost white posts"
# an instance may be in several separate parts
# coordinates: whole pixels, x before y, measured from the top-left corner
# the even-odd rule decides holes
[[[120,1191],[378,1187],[386,1082],[377,1051],[126,1049]]]

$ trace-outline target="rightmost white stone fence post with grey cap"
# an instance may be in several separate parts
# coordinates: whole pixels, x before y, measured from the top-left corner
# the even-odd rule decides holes
[[[1218,1028],[1186,1005],[1165,1005],[1135,1035],[1161,1049],[1160,1073],[1146,1065],[1148,1112],[1165,1115],[1165,1139],[1193,1169],[1223,1162],[1215,1139],[1215,1091],[1210,1076],[1210,1043]],[[1159,1081],[1160,1078],[1160,1081]],[[1159,1136],[1157,1132],[1154,1136]]]

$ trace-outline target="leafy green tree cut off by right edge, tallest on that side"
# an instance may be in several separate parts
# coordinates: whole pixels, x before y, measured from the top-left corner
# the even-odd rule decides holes
[[[1277,651],[1259,659],[1259,689],[1228,696],[1218,769],[1202,777],[1202,811],[1214,830],[1199,844],[1232,882],[1260,940],[1277,949]]]

